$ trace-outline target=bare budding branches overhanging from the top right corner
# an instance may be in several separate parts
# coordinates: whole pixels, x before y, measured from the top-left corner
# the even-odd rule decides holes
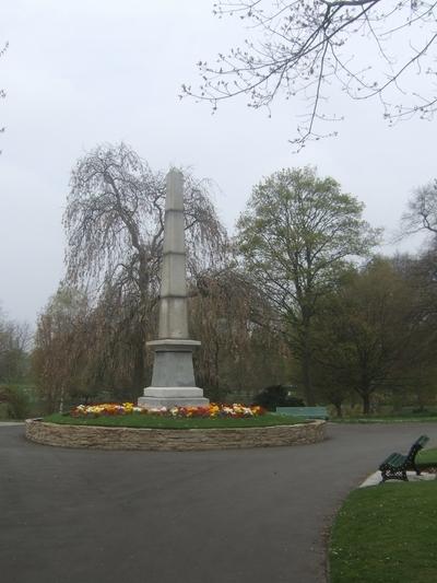
[[[336,135],[319,129],[320,121],[341,119],[327,110],[335,84],[353,100],[378,98],[390,124],[415,114],[428,119],[437,107],[436,7],[424,0],[220,0],[214,13],[239,18],[249,37],[213,65],[199,61],[200,88],[182,85],[182,92],[214,109],[241,94],[249,106],[269,109],[280,93],[300,96],[308,113],[291,140],[297,149]],[[424,94],[417,75],[426,79]]]

